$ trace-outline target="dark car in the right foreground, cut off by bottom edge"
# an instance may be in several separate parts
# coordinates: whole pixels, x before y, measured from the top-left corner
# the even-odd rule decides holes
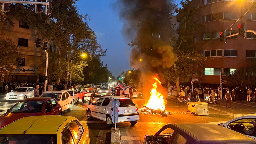
[[[172,123],[154,135],[146,135],[144,144],[255,144],[256,140],[230,129],[206,123]]]

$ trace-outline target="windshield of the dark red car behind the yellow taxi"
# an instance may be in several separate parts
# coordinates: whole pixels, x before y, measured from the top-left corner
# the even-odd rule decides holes
[[[42,111],[43,105],[44,101],[22,101],[17,103],[8,112],[36,113]]]

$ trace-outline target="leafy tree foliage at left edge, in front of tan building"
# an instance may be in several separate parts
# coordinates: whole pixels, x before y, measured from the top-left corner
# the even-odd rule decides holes
[[[0,72],[12,71],[16,66],[16,59],[19,60],[20,53],[17,52],[17,46],[10,39],[0,38]]]

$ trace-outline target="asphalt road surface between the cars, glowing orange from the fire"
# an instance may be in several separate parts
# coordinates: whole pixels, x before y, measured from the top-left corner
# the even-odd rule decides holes
[[[6,101],[4,95],[0,95],[0,114],[6,112],[17,101]],[[161,115],[140,114],[140,120],[134,126],[129,122],[122,122],[117,124],[120,129],[122,144],[139,144],[143,142],[146,134],[153,135],[163,125],[175,122],[214,122],[214,121],[228,121],[235,116],[255,113],[256,103],[246,101],[232,102],[233,109],[224,107],[225,101],[220,104],[209,104],[209,116],[195,116],[187,112],[187,107],[184,103],[176,103],[172,98],[168,99],[166,110],[171,112],[167,117]],[[86,122],[89,127],[89,134],[91,144],[108,144],[110,143],[110,128],[107,128],[104,121],[98,119],[88,120],[86,117],[86,107],[88,102],[82,103],[79,101],[72,107],[70,112],[64,111],[63,115],[74,116],[82,122]]]

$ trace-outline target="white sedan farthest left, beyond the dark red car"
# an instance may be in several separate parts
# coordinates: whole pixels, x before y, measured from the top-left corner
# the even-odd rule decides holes
[[[34,97],[34,88],[17,87],[11,92],[6,94],[5,100],[24,100],[30,97]]]

